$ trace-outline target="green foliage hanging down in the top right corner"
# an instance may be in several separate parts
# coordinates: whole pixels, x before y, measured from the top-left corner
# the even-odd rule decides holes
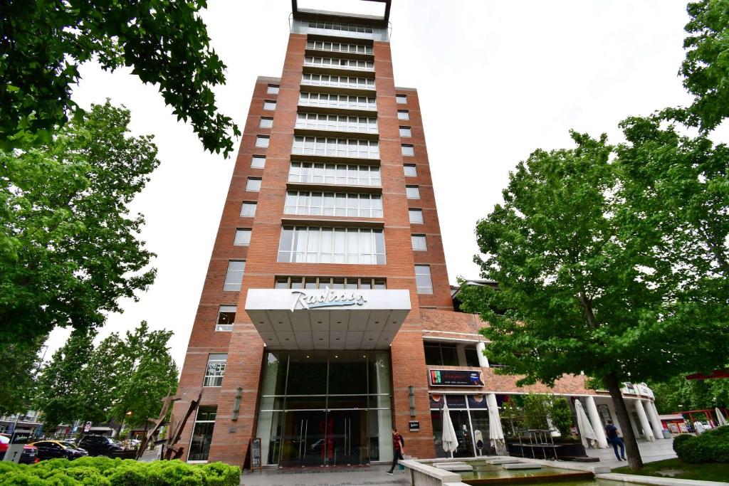
[[[729,117],[729,1],[701,0],[688,4],[687,50],[681,66],[684,86],[695,96],[687,119],[704,131]]]

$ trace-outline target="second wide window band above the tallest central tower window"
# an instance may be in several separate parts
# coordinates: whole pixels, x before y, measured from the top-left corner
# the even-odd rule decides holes
[[[291,162],[289,182],[381,187],[380,168],[375,165],[314,164]]]

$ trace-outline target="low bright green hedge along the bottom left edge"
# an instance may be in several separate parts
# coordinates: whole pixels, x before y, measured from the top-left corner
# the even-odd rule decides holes
[[[238,486],[241,469],[182,460],[51,459],[27,466],[0,461],[3,486]]]

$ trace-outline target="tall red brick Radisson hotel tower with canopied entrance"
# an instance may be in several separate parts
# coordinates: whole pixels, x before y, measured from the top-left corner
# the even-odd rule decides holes
[[[180,395],[202,390],[189,461],[242,465],[255,438],[264,465],[389,461],[392,426],[435,457],[445,401],[456,455],[475,455],[488,408],[498,419],[528,391],[614,418],[582,377],[545,390],[494,375],[484,324],[454,310],[418,92],[395,85],[383,4],[369,17],[293,1],[281,77],[256,81],[180,378]],[[647,433],[649,393],[634,395]]]

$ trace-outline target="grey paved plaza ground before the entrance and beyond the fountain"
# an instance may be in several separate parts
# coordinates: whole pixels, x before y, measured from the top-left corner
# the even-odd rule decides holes
[[[644,463],[654,460],[675,458],[671,444],[673,440],[657,440],[655,442],[639,442],[639,447]],[[627,466],[627,462],[615,459],[612,446],[609,449],[590,449],[590,457],[600,458],[599,464],[615,468]],[[585,463],[596,465],[598,463]],[[262,469],[262,471],[245,471],[241,479],[241,485],[245,486],[359,486],[359,485],[409,485],[410,478],[404,473],[395,469],[392,476],[386,474],[390,469],[389,464],[375,464],[373,466],[362,466],[352,468],[287,468],[287,469]]]

